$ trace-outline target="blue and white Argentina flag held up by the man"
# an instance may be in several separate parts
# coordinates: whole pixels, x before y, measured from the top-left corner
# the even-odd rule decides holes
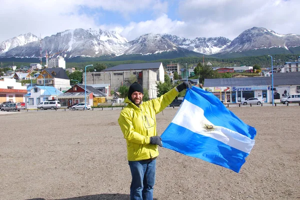
[[[238,173],[255,135],[255,128],[238,119],[212,93],[192,87],[161,139],[164,148]]]

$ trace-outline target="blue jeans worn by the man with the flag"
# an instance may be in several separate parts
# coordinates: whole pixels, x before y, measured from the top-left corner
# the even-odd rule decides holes
[[[131,171],[130,200],[153,200],[156,159],[128,161]]]

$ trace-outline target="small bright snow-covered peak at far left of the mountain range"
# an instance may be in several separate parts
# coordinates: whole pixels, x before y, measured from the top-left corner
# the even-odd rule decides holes
[[[6,51],[17,47],[23,46],[33,41],[38,41],[38,37],[32,33],[20,34],[19,36],[7,39],[0,43],[0,54],[5,53]]]

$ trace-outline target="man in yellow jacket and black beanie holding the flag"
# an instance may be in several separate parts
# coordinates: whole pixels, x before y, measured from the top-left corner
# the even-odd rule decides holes
[[[130,200],[152,200],[155,183],[157,145],[162,147],[161,138],[156,133],[155,114],[168,106],[179,92],[191,88],[183,82],[164,95],[142,102],[142,86],[134,82],[130,85],[118,123],[127,143],[127,159],[131,172]]]

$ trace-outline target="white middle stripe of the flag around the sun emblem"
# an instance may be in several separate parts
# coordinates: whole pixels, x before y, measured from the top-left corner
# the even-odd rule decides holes
[[[205,118],[204,111],[200,107],[190,103],[186,99],[181,104],[172,123],[184,127],[194,133],[213,138],[245,153],[250,153],[255,143],[255,140],[235,131],[220,126],[214,126]],[[205,124],[212,125],[214,129],[207,131],[207,129],[204,128]]]

